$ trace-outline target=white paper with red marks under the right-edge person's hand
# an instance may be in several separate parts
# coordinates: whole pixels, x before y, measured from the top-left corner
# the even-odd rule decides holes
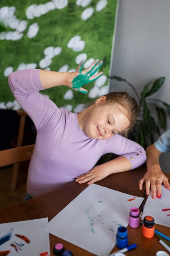
[[[150,191],[141,219],[150,215],[155,219],[155,223],[170,227],[170,190],[163,185],[161,190],[161,198],[157,199],[152,199]]]

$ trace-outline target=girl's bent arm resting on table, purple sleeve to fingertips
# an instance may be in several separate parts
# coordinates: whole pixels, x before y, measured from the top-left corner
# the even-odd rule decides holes
[[[121,135],[114,135],[109,139],[107,147],[107,152],[105,151],[104,153],[113,152],[119,157],[93,167],[90,171],[78,176],[75,180],[76,182],[92,184],[112,173],[120,173],[137,168],[146,161],[144,148],[135,141],[131,141]]]

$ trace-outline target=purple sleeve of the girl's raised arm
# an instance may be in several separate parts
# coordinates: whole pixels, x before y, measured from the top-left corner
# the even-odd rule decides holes
[[[31,117],[37,130],[61,116],[55,103],[39,93],[44,90],[39,73],[38,69],[19,70],[12,72],[8,78],[13,96]]]

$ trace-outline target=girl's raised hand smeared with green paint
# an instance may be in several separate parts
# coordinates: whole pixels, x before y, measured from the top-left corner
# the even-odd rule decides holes
[[[95,73],[103,65],[103,61],[99,61],[97,59],[90,65],[90,67],[87,67],[85,70],[82,71],[83,65],[84,62],[81,61],[77,67],[77,70],[72,73],[74,78],[71,80],[71,83],[68,82],[68,86],[73,88],[75,91],[86,94],[87,90],[82,88],[82,86],[92,81],[95,81],[97,78],[102,76],[103,72],[99,72],[98,74]]]

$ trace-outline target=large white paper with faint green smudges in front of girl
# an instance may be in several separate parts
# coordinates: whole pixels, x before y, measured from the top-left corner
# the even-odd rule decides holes
[[[91,184],[43,229],[105,256],[115,246],[117,227],[127,227],[130,208],[139,207],[143,199]]]

